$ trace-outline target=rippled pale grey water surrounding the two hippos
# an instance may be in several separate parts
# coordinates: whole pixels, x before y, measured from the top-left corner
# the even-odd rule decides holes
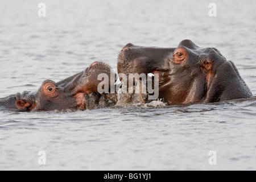
[[[38,16],[38,3],[47,16]],[[127,43],[191,39],[232,60],[256,95],[256,4],[214,1],[0,1],[0,97],[36,90]],[[0,169],[256,169],[256,101],[75,112],[0,111]],[[46,152],[46,165],[38,152]],[[210,165],[209,151],[217,164]]]

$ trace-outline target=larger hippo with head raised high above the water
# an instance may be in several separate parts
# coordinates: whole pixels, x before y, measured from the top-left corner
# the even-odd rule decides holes
[[[158,73],[158,98],[169,105],[253,97],[232,61],[216,48],[200,48],[191,40],[183,40],[175,48],[127,44],[117,65],[118,73],[127,76]]]

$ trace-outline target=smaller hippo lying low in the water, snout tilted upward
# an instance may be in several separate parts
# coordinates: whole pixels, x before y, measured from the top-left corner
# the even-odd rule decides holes
[[[96,61],[84,71],[59,82],[46,80],[36,92],[23,92],[0,99],[0,106],[9,109],[36,110],[66,110],[92,109],[97,105],[114,105],[111,95],[97,92],[100,73],[110,76],[112,69],[106,63]],[[108,81],[108,80],[106,80]],[[103,83],[109,85],[109,83]]]

